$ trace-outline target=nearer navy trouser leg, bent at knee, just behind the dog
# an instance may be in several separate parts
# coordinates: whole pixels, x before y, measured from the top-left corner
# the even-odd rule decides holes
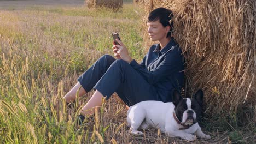
[[[128,106],[145,100],[159,100],[155,87],[122,59],[118,59],[110,65],[94,88],[107,99],[117,92]]]

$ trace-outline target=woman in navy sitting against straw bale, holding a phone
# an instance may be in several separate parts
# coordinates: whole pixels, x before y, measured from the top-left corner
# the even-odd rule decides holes
[[[81,109],[79,124],[86,116],[94,113],[93,108],[100,106],[102,97],[108,99],[114,92],[127,106],[145,100],[172,101],[172,90],[183,86],[183,56],[179,45],[171,37],[172,11],[165,8],[153,10],[147,21],[148,34],[152,41],[143,61],[138,64],[132,59],[126,46],[113,45],[114,56],[104,55],[78,78],[78,83],[64,99],[67,104],[94,88],[96,91]]]

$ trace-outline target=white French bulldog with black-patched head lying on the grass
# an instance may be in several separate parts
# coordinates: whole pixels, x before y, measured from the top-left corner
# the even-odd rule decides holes
[[[203,91],[200,89],[194,99],[182,98],[179,91],[174,90],[172,102],[142,101],[127,111],[127,125],[135,135],[142,135],[137,129],[149,126],[158,128],[170,137],[181,137],[193,141],[197,137],[211,139],[210,135],[202,132],[197,123],[202,111]],[[196,136],[195,136],[196,135]]]

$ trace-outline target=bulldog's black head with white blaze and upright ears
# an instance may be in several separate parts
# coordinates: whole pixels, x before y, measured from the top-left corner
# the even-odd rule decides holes
[[[198,90],[194,99],[190,99],[182,98],[179,91],[174,90],[172,103],[175,105],[175,114],[180,122],[188,125],[195,124],[202,112],[203,91]]]

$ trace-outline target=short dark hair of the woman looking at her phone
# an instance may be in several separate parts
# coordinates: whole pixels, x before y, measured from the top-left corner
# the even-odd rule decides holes
[[[170,9],[166,8],[156,8],[153,11],[151,11],[148,15],[148,21],[160,21],[162,26],[170,26],[171,29],[167,34],[167,37],[171,35],[172,30],[173,30],[173,21],[172,20],[173,14]],[[171,22],[170,22],[171,21]]]

